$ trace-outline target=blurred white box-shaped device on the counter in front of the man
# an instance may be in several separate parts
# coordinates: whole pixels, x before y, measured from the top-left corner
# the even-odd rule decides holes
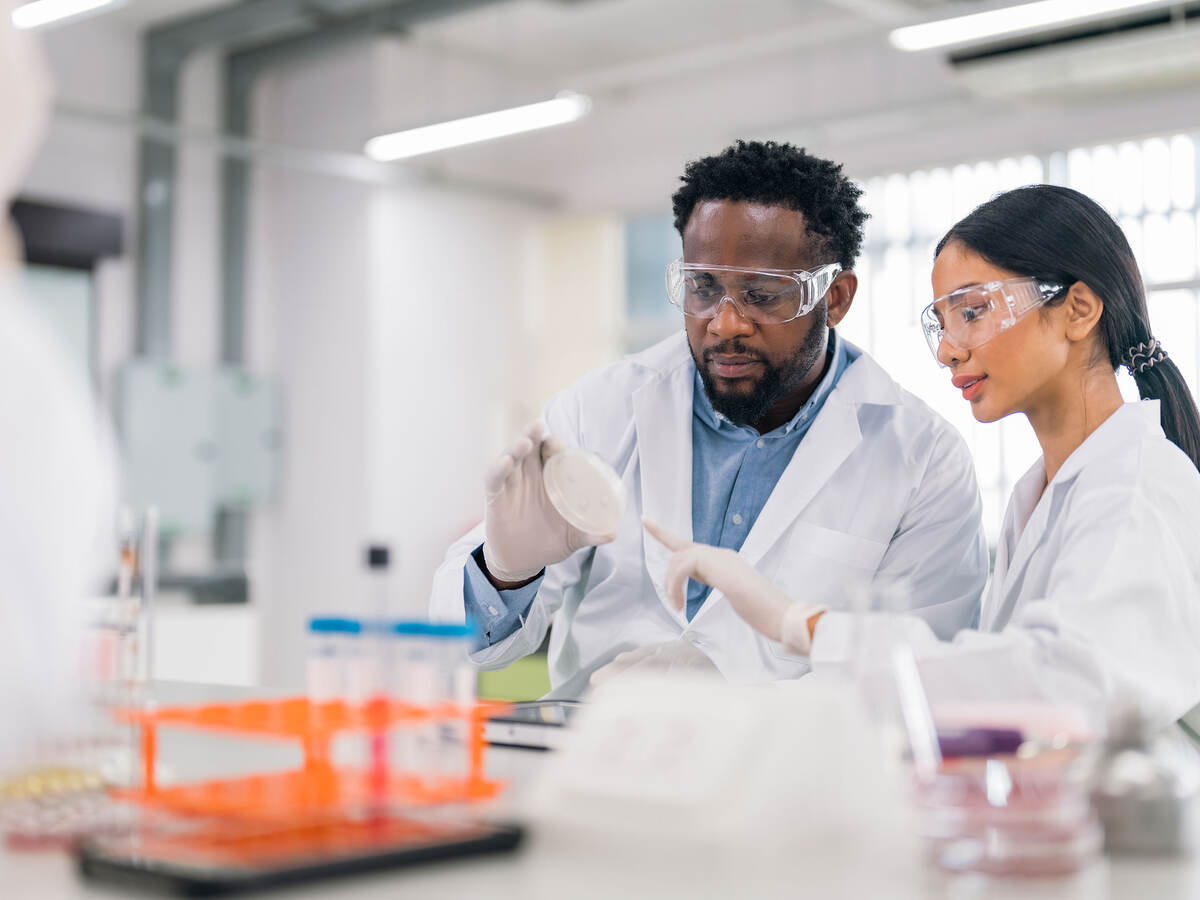
[[[918,878],[904,780],[850,685],[630,674],[596,688],[575,719],[526,812],[536,840],[580,852],[581,865],[594,864],[587,847],[636,880],[678,857],[709,896],[772,893],[763,880],[785,875],[781,856],[785,883],[814,896]]]

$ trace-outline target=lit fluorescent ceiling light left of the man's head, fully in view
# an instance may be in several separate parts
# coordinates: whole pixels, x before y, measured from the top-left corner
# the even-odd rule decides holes
[[[365,151],[367,156],[379,162],[407,160],[410,156],[432,154],[451,146],[476,144],[480,140],[504,138],[553,125],[566,125],[582,119],[590,108],[592,101],[584,95],[562,91],[553,100],[540,103],[484,113],[468,119],[454,119],[424,128],[397,131],[394,134],[380,134],[367,142]]]

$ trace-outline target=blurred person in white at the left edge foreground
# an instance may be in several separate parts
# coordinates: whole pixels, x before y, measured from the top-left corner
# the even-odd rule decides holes
[[[44,65],[10,8],[0,2],[5,210],[49,112]],[[0,808],[6,826],[23,826],[94,799],[95,776],[71,763],[82,748],[72,736],[88,720],[79,625],[113,482],[86,386],[16,290],[13,246],[0,239]],[[49,768],[30,774],[35,761]]]

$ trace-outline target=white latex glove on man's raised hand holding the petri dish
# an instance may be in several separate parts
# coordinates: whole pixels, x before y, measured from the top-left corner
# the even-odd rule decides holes
[[[484,479],[484,562],[499,581],[528,581],[547,565],[583,547],[607,544],[613,534],[586,534],[564,520],[546,494],[542,470],[563,442],[540,421],[492,463]]]

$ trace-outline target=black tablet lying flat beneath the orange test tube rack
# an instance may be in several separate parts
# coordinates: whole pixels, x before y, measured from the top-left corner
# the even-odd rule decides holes
[[[305,824],[157,826],[90,838],[77,848],[86,878],[175,896],[216,896],[514,850],[518,826],[414,816]]]

